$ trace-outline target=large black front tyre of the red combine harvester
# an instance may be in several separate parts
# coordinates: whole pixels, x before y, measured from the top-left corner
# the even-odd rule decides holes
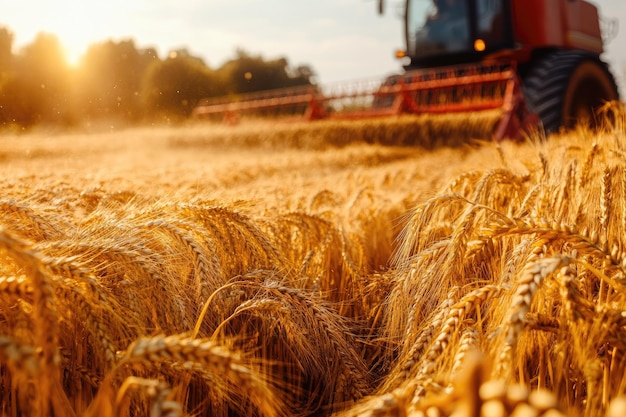
[[[528,107],[537,113],[546,134],[577,124],[597,125],[597,110],[619,99],[607,65],[580,51],[557,51],[534,62],[524,80]]]

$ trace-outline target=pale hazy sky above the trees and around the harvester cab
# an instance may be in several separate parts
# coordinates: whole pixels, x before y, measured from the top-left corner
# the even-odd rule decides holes
[[[595,0],[602,16],[621,28],[605,60],[624,85],[626,1]],[[374,79],[401,71],[404,47],[399,0],[0,0],[0,26],[19,50],[40,32],[56,35],[71,63],[89,45],[133,39],[163,58],[186,48],[218,68],[242,48],[265,59],[309,65],[323,84]],[[626,89],[623,89],[626,91]],[[626,95],[626,94],[624,94]]]

